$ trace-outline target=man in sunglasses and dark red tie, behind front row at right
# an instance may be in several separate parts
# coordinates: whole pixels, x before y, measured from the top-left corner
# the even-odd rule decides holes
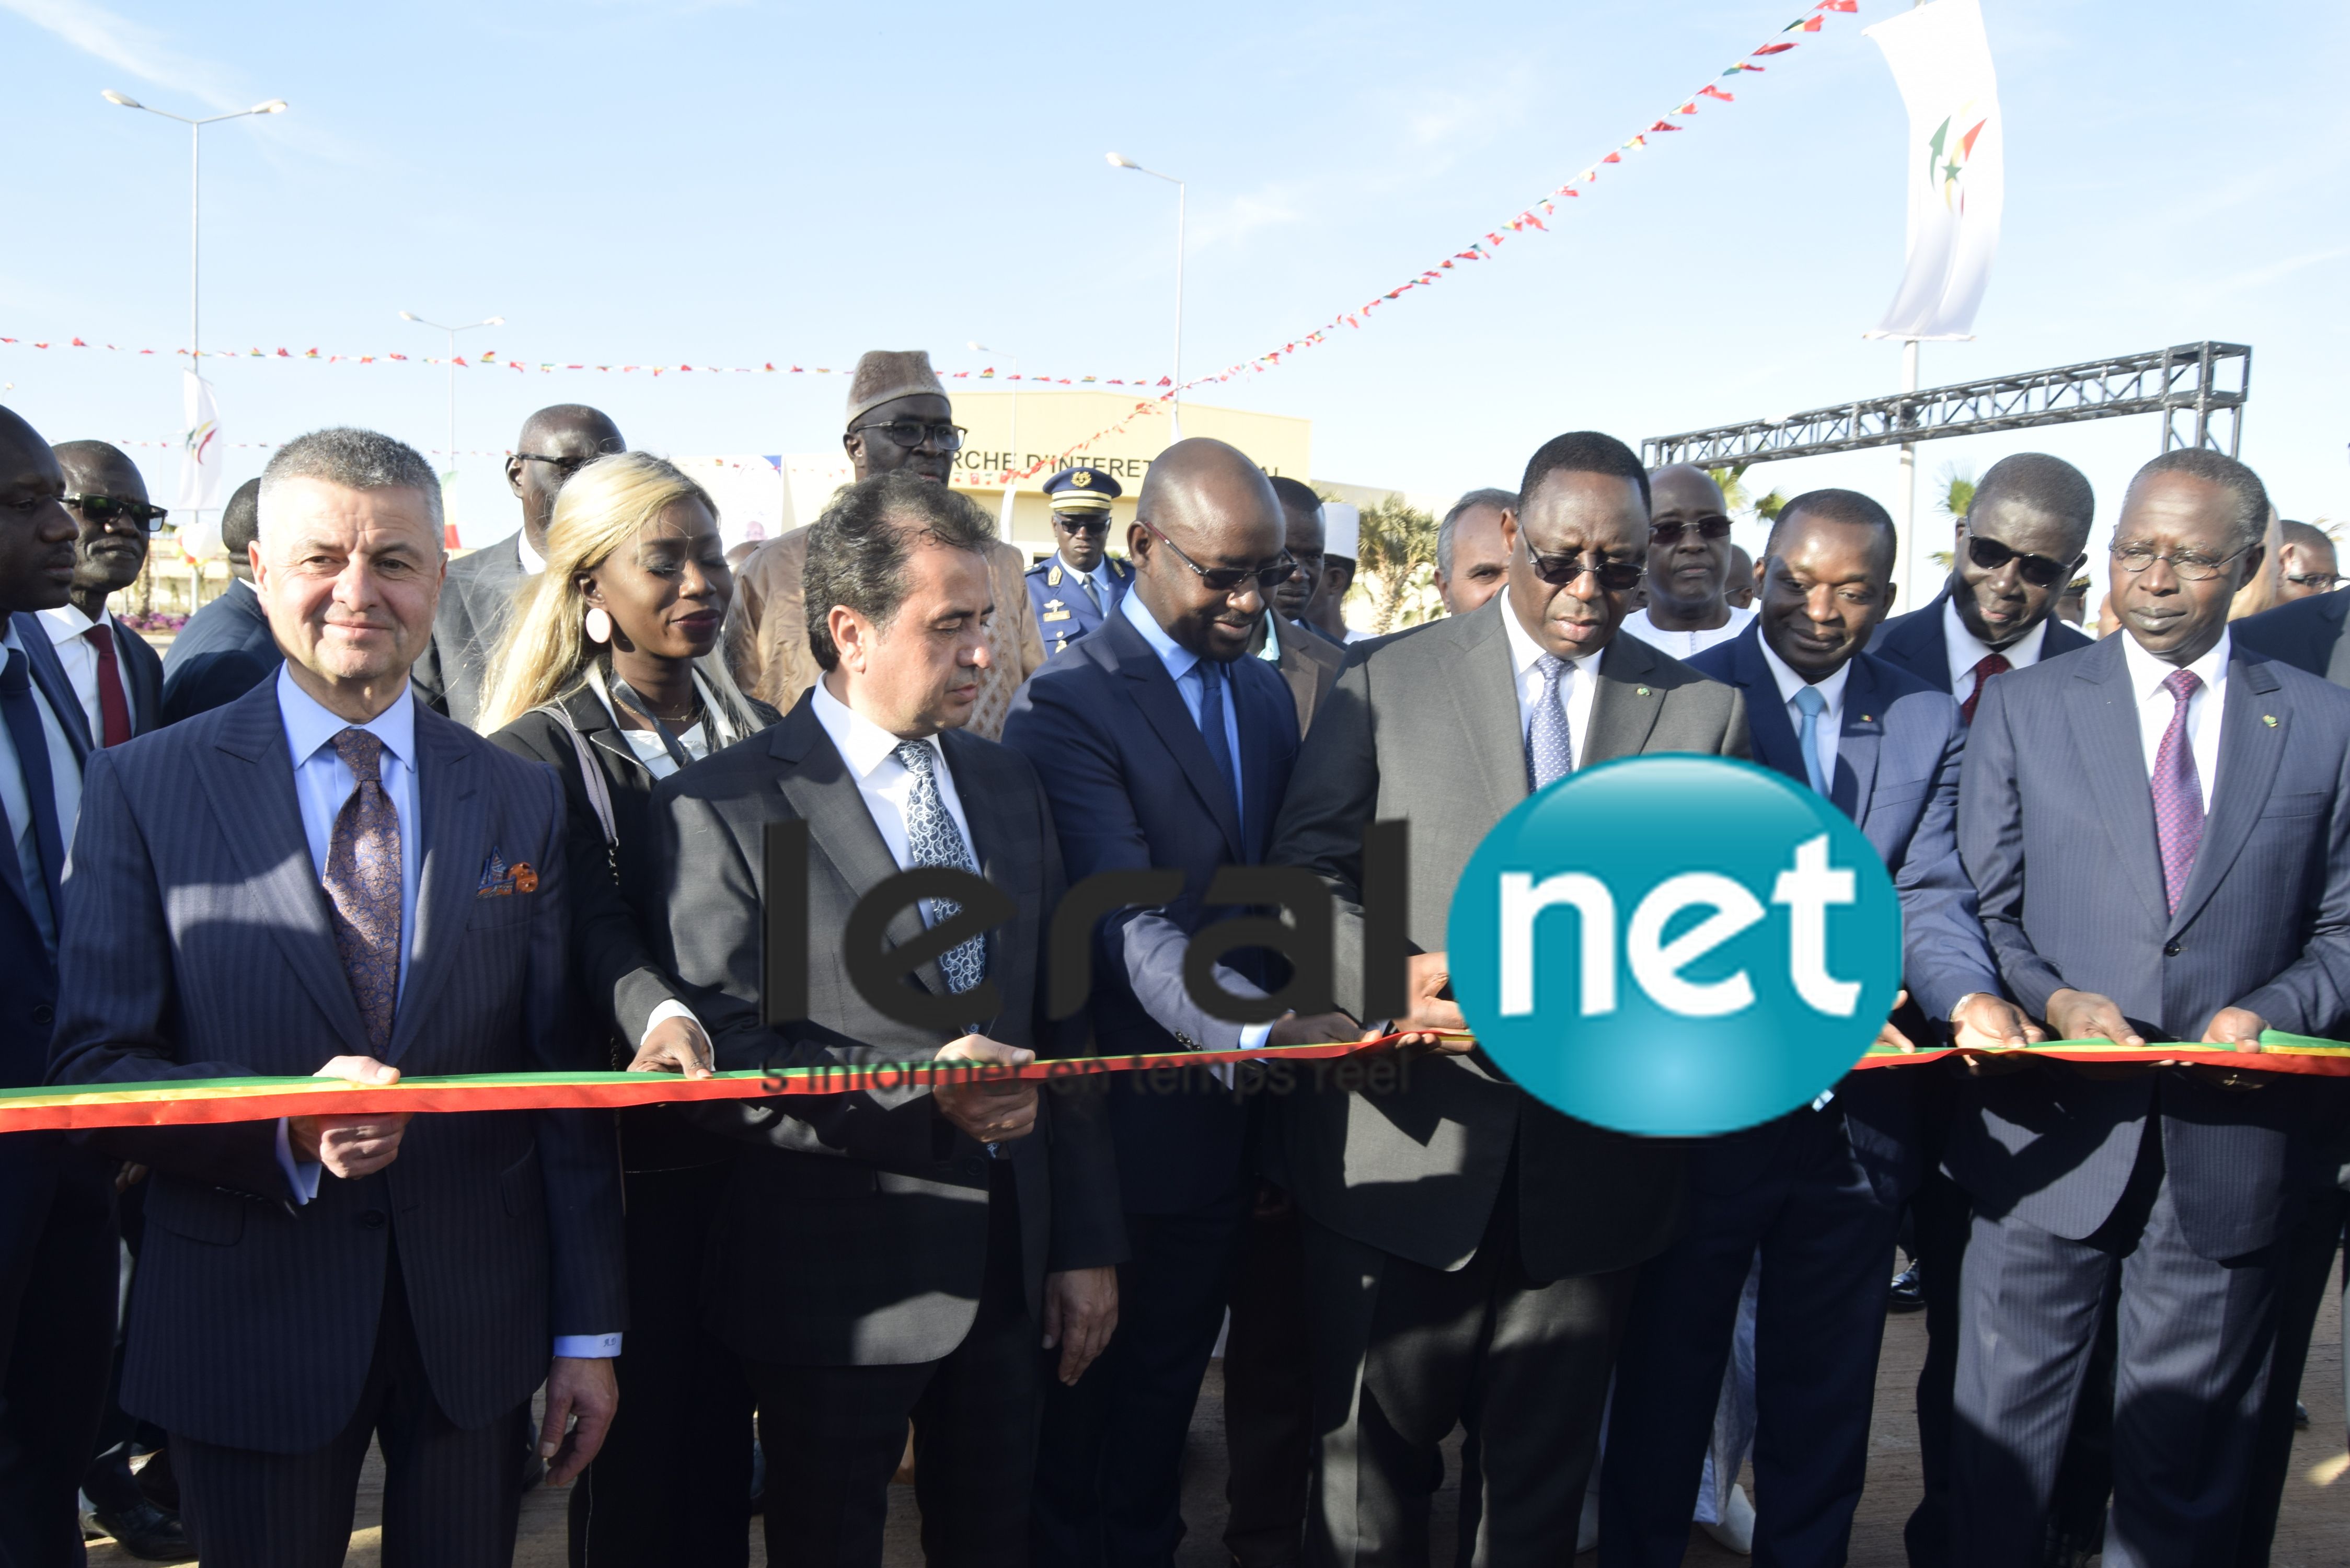
[[[1983,682],[2089,646],[2056,614],[2068,581],[2087,559],[2096,494],[2089,480],[2042,451],[2000,458],[1974,489],[1958,520],[1950,581],[1925,609],[1887,621],[1868,644],[1871,656],[1899,665],[1936,691],[1958,698],[1972,722]],[[1925,1307],[1927,1352],[1918,1368],[1918,1467],[1922,1497],[1911,1514],[1911,1568],[1950,1561],[1950,1378],[1958,1373],[1958,1276],[1974,1222],[1967,1194],[1941,1173],[1941,1143],[1950,1131],[1955,1079],[1920,1086],[1925,1105],[1927,1175],[1911,1197],[1911,1267],[1894,1279],[1894,1305]],[[2106,1432],[2092,1413],[2073,1439],[2063,1467],[2056,1537],[2047,1561],[2094,1552],[2108,1488]],[[2037,1559],[2035,1559],[2037,1561]]]

